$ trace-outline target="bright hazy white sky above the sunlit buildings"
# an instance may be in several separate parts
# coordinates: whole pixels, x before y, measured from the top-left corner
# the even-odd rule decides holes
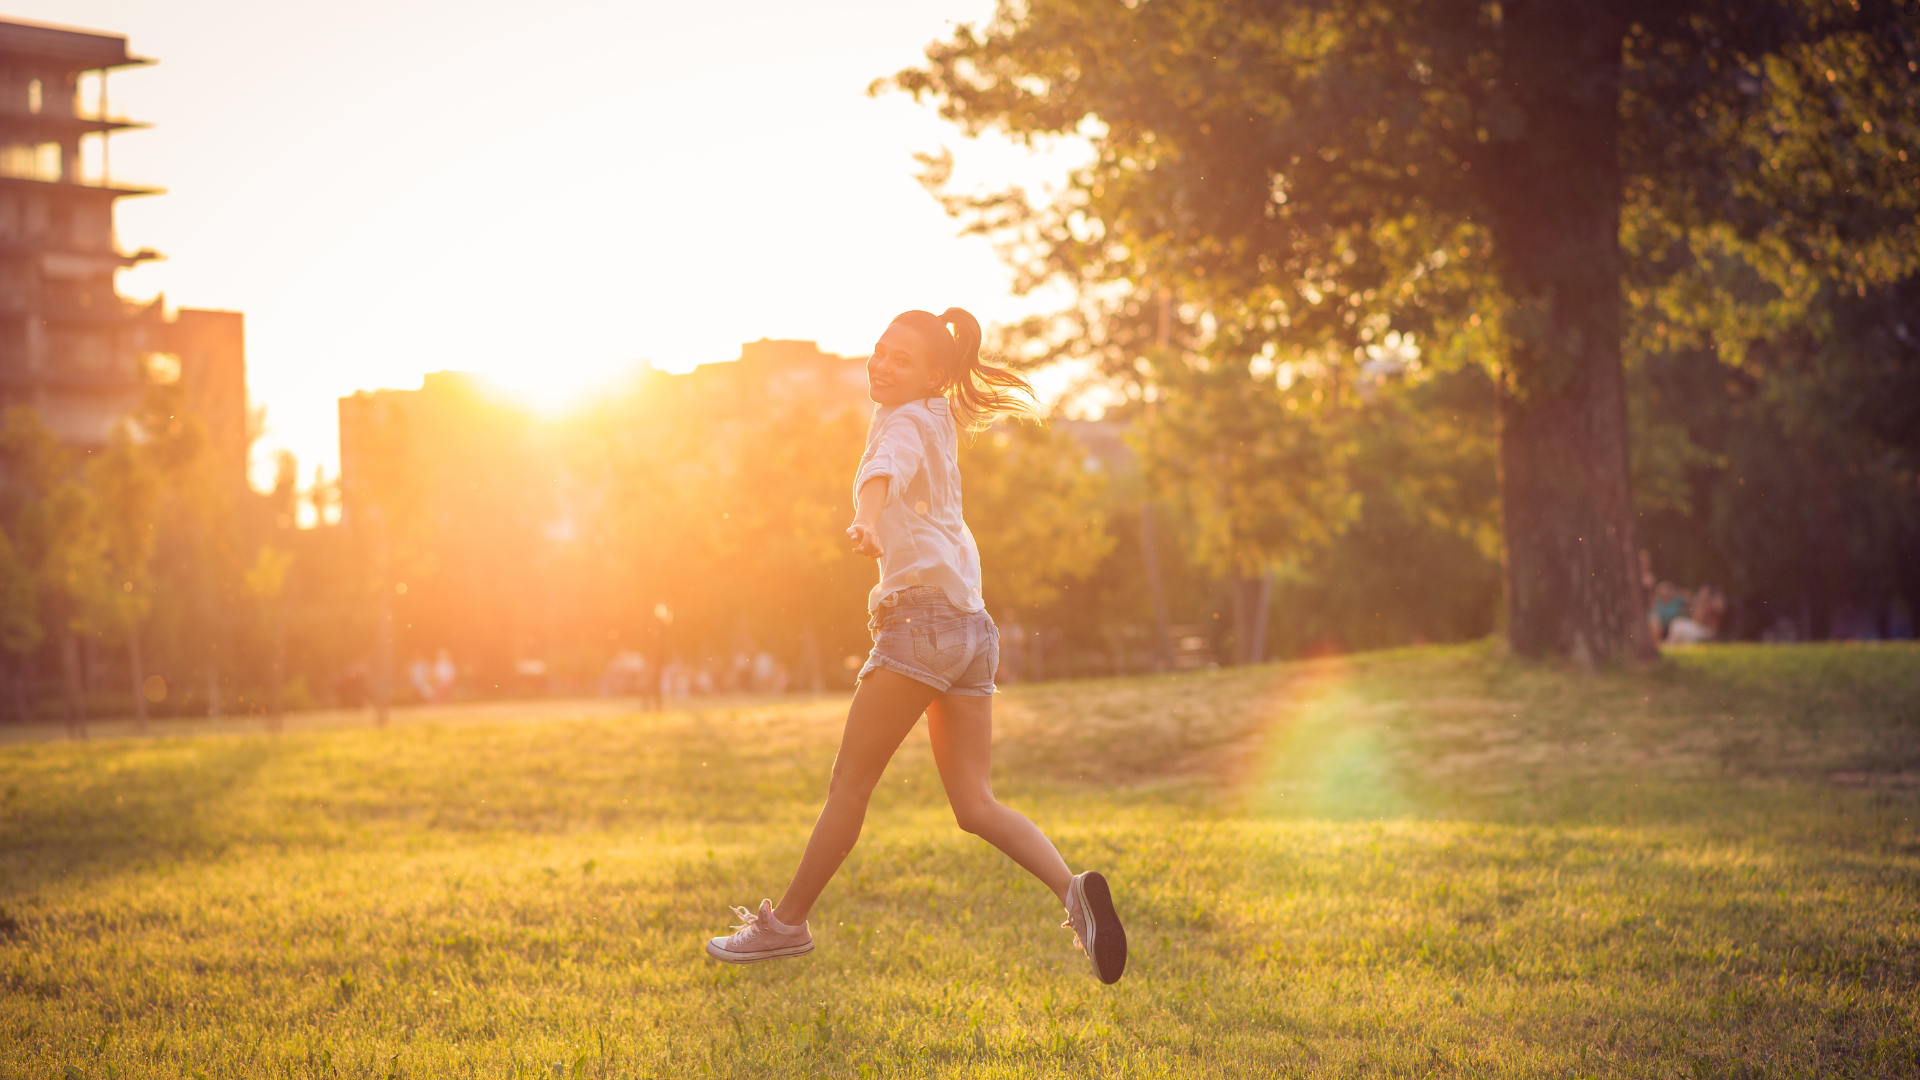
[[[246,311],[263,457],[336,459],[334,398],[484,371],[563,405],[643,361],[760,336],[864,352],[906,307],[1016,300],[914,181],[1050,175],[866,86],[991,0],[61,0],[10,17],[125,35],[111,77],[121,292]]]

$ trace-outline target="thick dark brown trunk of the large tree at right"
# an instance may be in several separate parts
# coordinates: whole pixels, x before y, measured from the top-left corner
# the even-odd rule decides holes
[[[1519,655],[1647,659],[1620,369],[1620,4],[1505,6],[1484,169],[1511,304],[1500,498]]]

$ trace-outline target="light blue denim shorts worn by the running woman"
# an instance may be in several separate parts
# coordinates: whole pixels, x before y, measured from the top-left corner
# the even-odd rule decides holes
[[[985,611],[960,611],[947,592],[916,584],[887,594],[866,623],[874,651],[860,678],[885,667],[941,694],[993,696],[1000,630]]]

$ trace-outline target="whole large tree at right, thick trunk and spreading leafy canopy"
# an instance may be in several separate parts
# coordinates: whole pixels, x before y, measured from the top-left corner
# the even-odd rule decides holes
[[[1786,296],[1912,267],[1914,33],[1872,0],[1031,0],[893,85],[1092,144],[1048,206],[950,200],[1029,284],[1171,284],[1331,367],[1384,332],[1484,363],[1509,638],[1601,661],[1653,651],[1624,315],[1728,258]]]

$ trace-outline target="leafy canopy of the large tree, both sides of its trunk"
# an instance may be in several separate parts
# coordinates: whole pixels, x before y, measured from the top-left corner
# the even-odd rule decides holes
[[[1814,277],[1912,273],[1920,188],[1901,156],[1920,142],[1920,31],[1893,4],[1596,4],[1523,23],[1467,0],[1037,0],[956,27],[876,88],[931,98],[966,133],[1092,142],[1046,206],[948,196],[977,231],[1020,236],[1029,282],[1152,281],[1331,356],[1382,319],[1498,367],[1496,315],[1517,296],[1501,282],[1528,256],[1492,246],[1488,223],[1528,200],[1509,173],[1540,135],[1530,65],[1553,54],[1524,35],[1624,56],[1617,167],[1640,334],[1755,336],[1751,317],[1705,302],[1728,256],[1757,275],[1751,304],[1772,325]]]

